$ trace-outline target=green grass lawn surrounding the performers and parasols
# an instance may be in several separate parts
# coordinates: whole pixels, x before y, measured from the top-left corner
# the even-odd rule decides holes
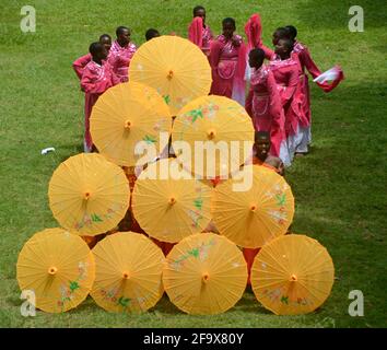
[[[305,316],[279,317],[246,292],[231,311],[189,316],[164,295],[139,316],[108,314],[87,299],[61,315],[20,314],[17,254],[33,233],[56,226],[47,199],[58,164],[82,150],[83,94],[71,62],[99,34],[132,28],[137,44],[148,27],[186,35],[197,1],[35,0],[35,34],[19,28],[24,1],[0,4],[0,326],[1,327],[386,327],[386,88],[387,33],[383,1],[361,1],[365,32],[348,30],[351,1],[200,1],[215,33],[224,16],[238,32],[254,11],[263,42],[280,25],[294,24],[300,39],[325,70],[340,63],[347,80],[330,94],[313,86],[309,155],[288,171],[296,200],[293,230],[317,238],[332,256],[337,280],[322,307]],[[55,147],[46,156],[40,150]],[[362,290],[364,317],[350,317],[351,290]]]

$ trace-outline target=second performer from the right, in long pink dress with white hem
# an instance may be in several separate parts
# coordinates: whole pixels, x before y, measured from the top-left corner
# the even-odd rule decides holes
[[[285,114],[285,135],[291,162],[294,156],[294,143],[298,127],[305,122],[302,109],[302,72],[298,60],[291,56],[293,42],[279,39],[275,43],[275,56],[270,61],[269,68],[274,75]]]

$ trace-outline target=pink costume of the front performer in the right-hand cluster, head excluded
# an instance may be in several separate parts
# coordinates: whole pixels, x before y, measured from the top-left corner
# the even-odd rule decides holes
[[[251,102],[246,102],[246,110],[253,118],[254,128],[256,131],[270,132],[270,154],[281,158],[284,165],[289,166],[285,116],[273,73],[262,65],[251,70],[250,83],[251,93],[247,98],[251,98]]]

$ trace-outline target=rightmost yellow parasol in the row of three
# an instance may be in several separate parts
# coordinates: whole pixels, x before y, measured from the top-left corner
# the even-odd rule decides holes
[[[236,179],[214,188],[213,220],[221,234],[237,245],[258,248],[286,233],[294,214],[293,194],[282,176],[265,166],[247,165],[238,176],[245,180],[239,191]]]

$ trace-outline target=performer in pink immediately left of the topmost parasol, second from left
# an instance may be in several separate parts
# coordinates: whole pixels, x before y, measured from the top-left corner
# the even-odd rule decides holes
[[[108,61],[120,82],[127,82],[129,81],[129,63],[137,47],[130,42],[130,30],[128,27],[119,26],[116,30],[116,36],[117,39],[112,45]]]

